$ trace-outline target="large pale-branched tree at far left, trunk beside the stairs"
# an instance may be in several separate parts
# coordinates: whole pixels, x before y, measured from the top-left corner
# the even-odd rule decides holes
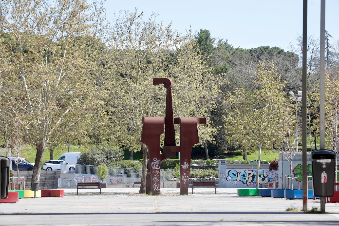
[[[71,128],[85,135],[100,99],[96,76],[100,40],[91,36],[84,0],[1,1],[1,104],[37,150],[32,183],[42,156]]]

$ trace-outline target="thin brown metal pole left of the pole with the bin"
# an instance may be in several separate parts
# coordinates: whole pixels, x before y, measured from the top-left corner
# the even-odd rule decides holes
[[[303,2],[302,23],[302,210],[307,211],[307,0]]]

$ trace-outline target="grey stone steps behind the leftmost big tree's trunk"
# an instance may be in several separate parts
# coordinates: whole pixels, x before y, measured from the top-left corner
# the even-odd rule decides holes
[[[16,175],[16,171],[14,171]],[[19,171],[19,177],[25,177],[25,189],[31,189],[33,171]],[[58,178],[60,171],[45,171],[40,172],[39,189],[58,189]]]

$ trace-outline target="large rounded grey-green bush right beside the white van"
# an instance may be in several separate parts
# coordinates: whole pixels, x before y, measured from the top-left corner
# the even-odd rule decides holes
[[[88,152],[81,153],[77,164],[82,165],[112,165],[122,160],[123,152],[119,147],[108,144],[92,145]]]

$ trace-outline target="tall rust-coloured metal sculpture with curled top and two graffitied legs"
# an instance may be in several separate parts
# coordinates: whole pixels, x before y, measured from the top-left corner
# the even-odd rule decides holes
[[[197,124],[206,124],[206,118],[174,118],[172,86],[170,79],[153,79],[153,85],[163,84],[166,88],[165,118],[142,118],[141,142],[148,148],[149,166],[147,168],[146,192],[160,194],[160,164],[166,159],[175,158],[180,152],[180,194],[188,194],[191,154],[193,145],[199,143]],[[174,124],[180,125],[180,146],[175,145]],[[160,136],[165,137],[163,153],[160,153]]]

